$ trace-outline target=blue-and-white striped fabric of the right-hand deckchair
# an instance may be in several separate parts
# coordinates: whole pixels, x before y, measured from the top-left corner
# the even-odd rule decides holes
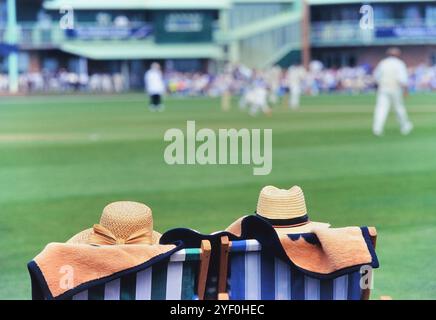
[[[360,300],[360,273],[320,280],[261,250],[257,240],[230,247],[229,297],[232,300]]]

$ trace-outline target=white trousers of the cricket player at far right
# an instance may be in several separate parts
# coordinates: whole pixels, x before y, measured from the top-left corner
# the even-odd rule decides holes
[[[379,91],[374,111],[374,134],[381,135],[383,133],[391,105],[394,107],[401,131],[407,130],[407,128],[412,125],[409,121],[406,108],[404,107],[403,92],[401,90]]]

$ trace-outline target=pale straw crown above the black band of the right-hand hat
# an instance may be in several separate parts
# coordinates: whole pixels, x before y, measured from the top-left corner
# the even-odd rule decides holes
[[[293,219],[306,215],[303,190],[299,186],[290,189],[264,187],[259,194],[257,214],[268,219]]]

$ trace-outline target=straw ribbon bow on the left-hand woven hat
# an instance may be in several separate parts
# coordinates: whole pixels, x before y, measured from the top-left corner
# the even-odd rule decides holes
[[[132,233],[127,239],[117,238],[109,229],[101,224],[94,224],[94,233],[89,237],[89,243],[95,245],[119,244],[151,244],[151,235],[148,229],[141,229]]]

